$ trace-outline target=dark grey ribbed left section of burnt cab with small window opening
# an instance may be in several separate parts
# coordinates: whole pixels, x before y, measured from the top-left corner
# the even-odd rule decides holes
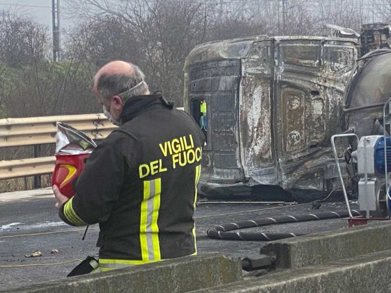
[[[235,184],[244,178],[238,143],[241,64],[236,56],[246,52],[250,44],[206,44],[199,54],[197,48],[193,50],[187,60],[185,110],[189,110],[206,135],[202,180],[210,184]],[[232,57],[221,58],[221,54]],[[202,103],[207,105],[206,127]]]

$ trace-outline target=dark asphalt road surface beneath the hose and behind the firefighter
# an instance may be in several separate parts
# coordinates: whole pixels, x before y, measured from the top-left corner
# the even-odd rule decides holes
[[[200,203],[195,212],[199,254],[219,252],[245,257],[259,253],[262,242],[213,240],[206,236],[206,230],[242,220],[316,212],[311,207],[311,203],[291,206]],[[357,209],[357,204],[353,203],[352,208]],[[327,202],[317,211],[342,210],[346,210],[343,202]],[[314,233],[346,226],[346,220],[332,219],[241,231]],[[97,225],[89,228],[84,241],[81,240],[83,233],[84,229],[68,226],[59,219],[53,198],[0,203],[0,290],[65,278],[77,265],[78,259],[87,255],[97,256]],[[50,253],[53,249],[57,249],[58,253]],[[35,251],[40,251],[42,256],[25,257]]]

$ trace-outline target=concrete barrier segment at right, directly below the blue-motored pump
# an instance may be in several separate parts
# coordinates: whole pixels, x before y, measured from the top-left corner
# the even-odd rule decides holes
[[[391,249],[388,221],[273,241],[261,253],[275,255],[277,267],[298,269],[387,249]]]

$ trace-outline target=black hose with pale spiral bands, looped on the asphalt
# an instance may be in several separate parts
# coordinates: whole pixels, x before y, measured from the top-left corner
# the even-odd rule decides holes
[[[351,210],[353,216],[360,216],[360,213]],[[246,220],[237,223],[228,223],[218,225],[206,231],[209,238],[221,240],[241,240],[241,241],[272,241],[291,237],[302,236],[305,234],[295,233],[252,233],[252,232],[228,232],[231,230],[266,226],[271,224],[297,223],[316,220],[326,220],[335,218],[349,217],[348,212],[321,212],[314,214],[285,215],[278,217],[267,217],[256,220]]]

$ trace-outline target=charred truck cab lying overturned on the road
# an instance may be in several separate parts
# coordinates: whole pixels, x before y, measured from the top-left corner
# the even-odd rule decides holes
[[[200,193],[337,186],[330,137],[342,131],[356,58],[357,43],[338,38],[258,36],[195,47],[185,63],[184,109],[207,140]]]

